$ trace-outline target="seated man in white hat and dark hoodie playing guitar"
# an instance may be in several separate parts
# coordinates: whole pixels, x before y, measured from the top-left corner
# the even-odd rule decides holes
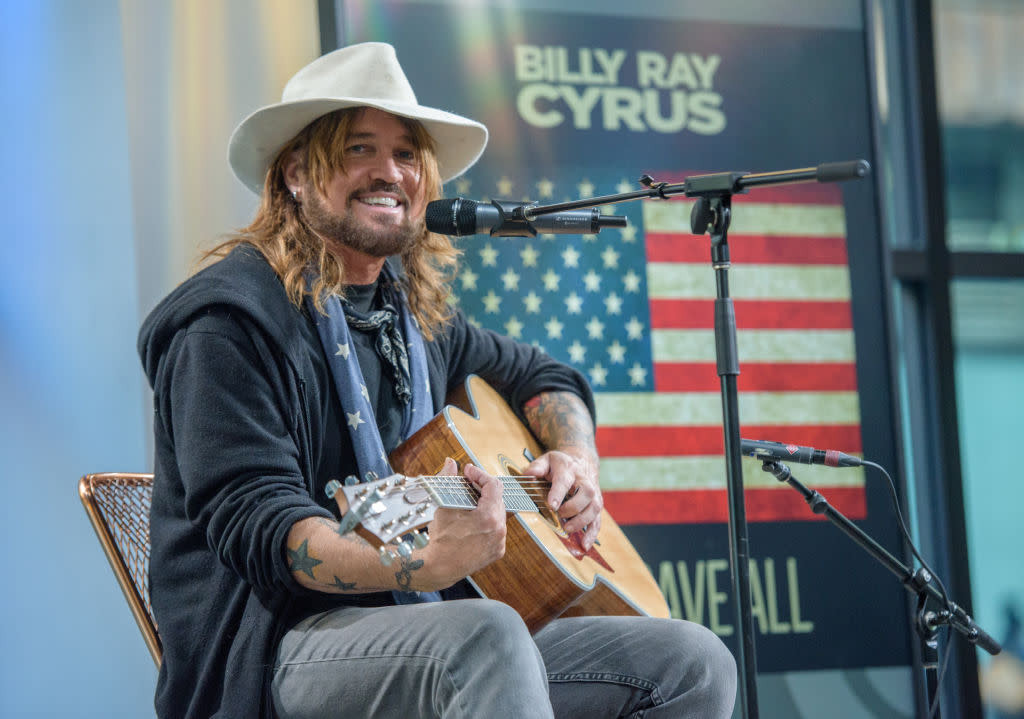
[[[426,203],[486,130],[420,105],[393,48],[315,60],[236,130],[256,219],[150,315],[151,593],[161,717],[722,717],[735,665],[702,627],[555,620],[530,636],[463,580],[505,551],[500,482],[383,565],[339,534],[331,479],[384,457],[477,374],[548,448],[526,472],[591,546],[593,401],[579,373],[446,302],[457,251]],[[396,260],[388,259],[389,257]],[[449,462],[447,473],[456,467]],[[459,599],[458,601],[456,601]]]

